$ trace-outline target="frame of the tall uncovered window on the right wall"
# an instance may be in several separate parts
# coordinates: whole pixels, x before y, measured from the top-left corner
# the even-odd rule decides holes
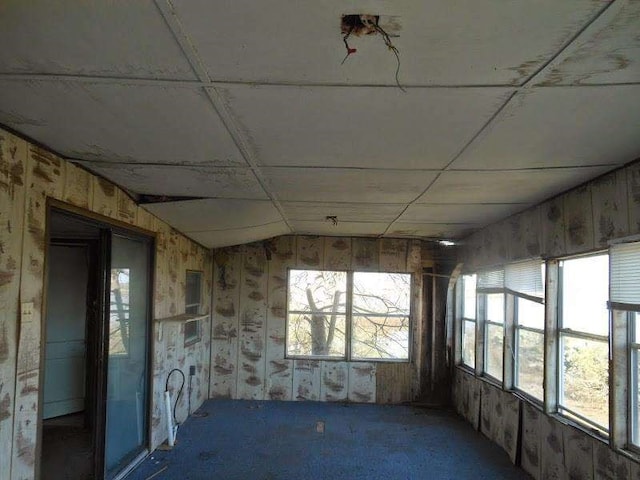
[[[557,264],[557,269],[558,269],[558,286],[557,286],[557,305],[556,305],[556,329],[555,329],[555,343],[556,343],[556,351],[555,356],[556,356],[556,368],[555,371],[552,372],[553,375],[555,376],[555,410],[558,415],[561,415],[563,418],[568,419],[571,422],[575,422],[577,425],[583,427],[583,428],[589,428],[595,432],[597,432],[599,435],[602,435],[606,438],[610,438],[610,433],[612,430],[612,425],[611,425],[611,396],[613,394],[612,389],[611,389],[611,336],[612,336],[612,331],[611,331],[611,320],[612,320],[612,310],[610,308],[608,308],[608,334],[605,335],[598,335],[598,334],[594,334],[594,333],[589,333],[589,332],[584,332],[584,331],[580,331],[580,330],[574,330],[571,328],[565,328],[563,325],[563,321],[564,321],[564,315],[563,315],[563,295],[564,295],[564,262],[566,261],[571,261],[571,260],[577,260],[577,259],[581,259],[581,258],[590,258],[590,257],[597,257],[597,256],[609,256],[609,250],[600,250],[597,252],[591,252],[591,253],[587,253],[587,254],[582,254],[582,255],[574,255],[574,256],[568,256],[568,257],[562,257],[562,258],[558,258],[558,264]],[[610,267],[608,267],[610,268]],[[609,272],[610,275],[610,272]],[[609,278],[607,278],[607,302],[609,301],[609,289],[610,289],[610,285],[609,285]],[[564,388],[563,388],[563,384],[564,384],[564,367],[563,367],[563,363],[564,363],[564,358],[563,358],[563,353],[564,353],[564,344],[563,344],[563,340],[564,338],[574,338],[574,339],[578,339],[578,340],[587,340],[587,341],[594,341],[594,342],[600,342],[600,343],[604,343],[607,346],[607,350],[608,350],[608,368],[607,368],[607,375],[608,375],[608,381],[607,381],[607,385],[608,385],[608,389],[607,389],[607,398],[608,398],[608,408],[609,408],[609,419],[607,421],[607,425],[600,425],[599,423],[597,423],[595,420],[590,419],[584,415],[582,415],[579,412],[576,412],[575,410],[566,407],[565,405],[563,405],[564,403]],[[545,369],[547,367],[545,366]]]

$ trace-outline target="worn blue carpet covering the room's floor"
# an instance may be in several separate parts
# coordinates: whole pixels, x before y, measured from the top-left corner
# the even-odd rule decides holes
[[[127,480],[528,479],[447,411],[407,406],[210,400]],[[324,422],[324,432],[322,424]]]

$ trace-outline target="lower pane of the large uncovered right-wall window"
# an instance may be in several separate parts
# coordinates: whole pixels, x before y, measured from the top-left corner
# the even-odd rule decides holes
[[[561,339],[563,407],[608,428],[609,347],[606,342],[564,335]]]

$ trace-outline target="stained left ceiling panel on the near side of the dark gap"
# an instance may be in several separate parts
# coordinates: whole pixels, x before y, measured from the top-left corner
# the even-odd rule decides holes
[[[135,193],[267,199],[267,195],[249,168],[78,163]]]

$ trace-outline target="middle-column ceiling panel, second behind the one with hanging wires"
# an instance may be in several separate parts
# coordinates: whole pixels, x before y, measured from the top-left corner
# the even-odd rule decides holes
[[[284,201],[407,203],[420,195],[436,172],[342,168],[262,169]]]

